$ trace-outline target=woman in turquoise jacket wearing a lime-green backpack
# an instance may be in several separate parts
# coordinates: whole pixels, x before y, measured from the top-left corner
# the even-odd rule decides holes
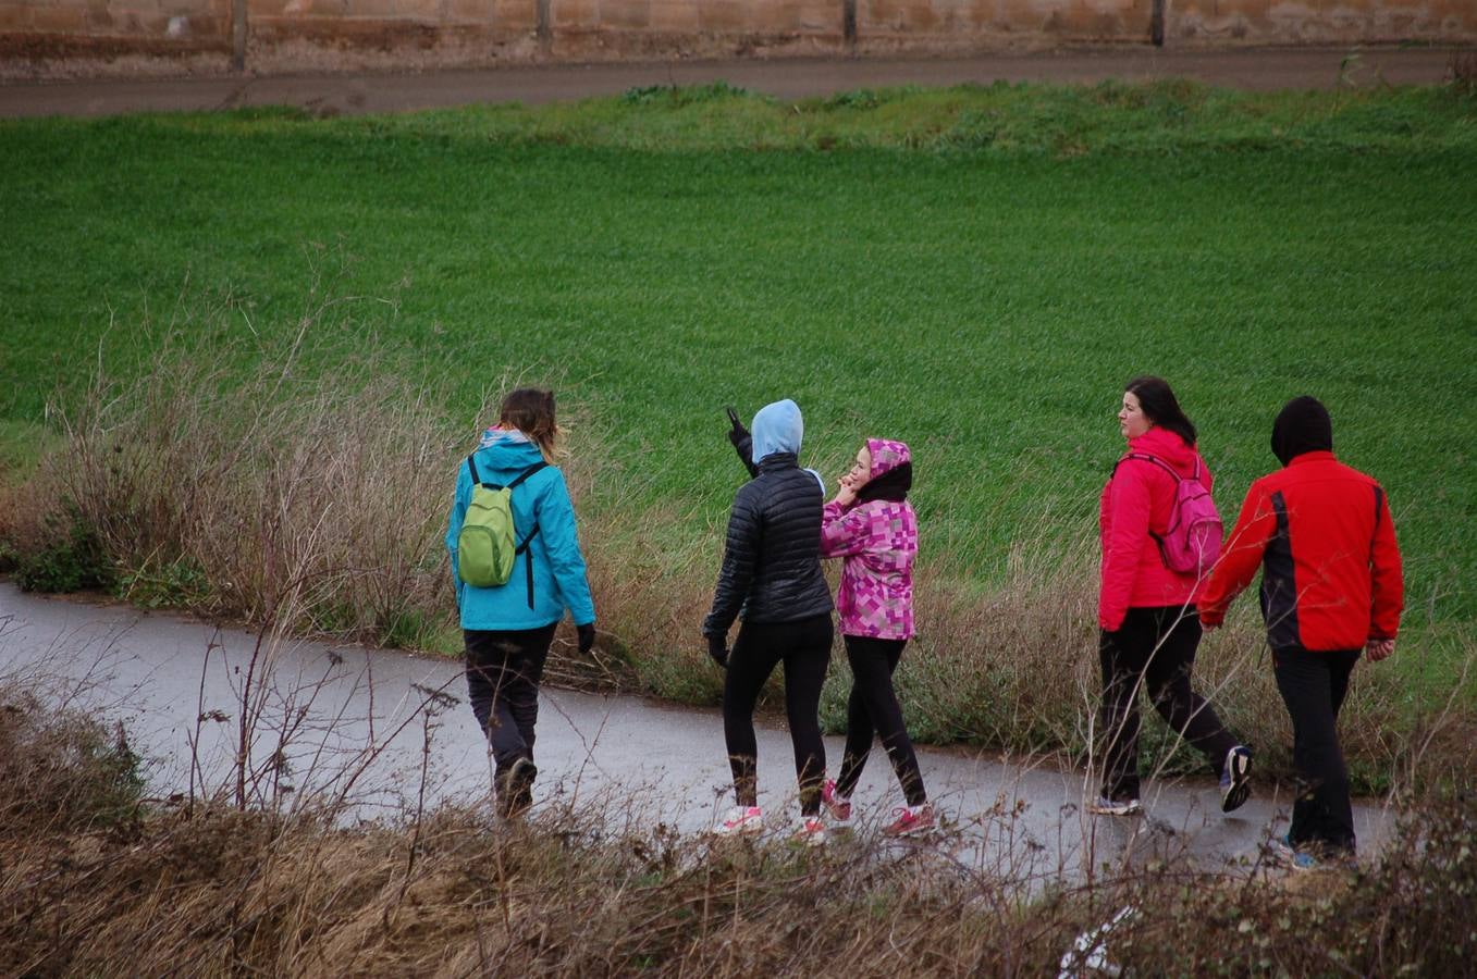
[[[588,653],[595,642],[595,604],[575,530],[575,506],[564,474],[552,465],[558,436],[552,391],[518,388],[508,394],[498,424],[483,433],[458,468],[446,527],[467,645],[467,693],[492,746],[498,811],[507,817],[520,815],[533,802],[539,681],[566,608],[579,632],[579,651]],[[458,571],[458,539],[474,471],[483,486],[517,483],[511,509],[518,554],[508,583],[495,588],[468,585]]]

